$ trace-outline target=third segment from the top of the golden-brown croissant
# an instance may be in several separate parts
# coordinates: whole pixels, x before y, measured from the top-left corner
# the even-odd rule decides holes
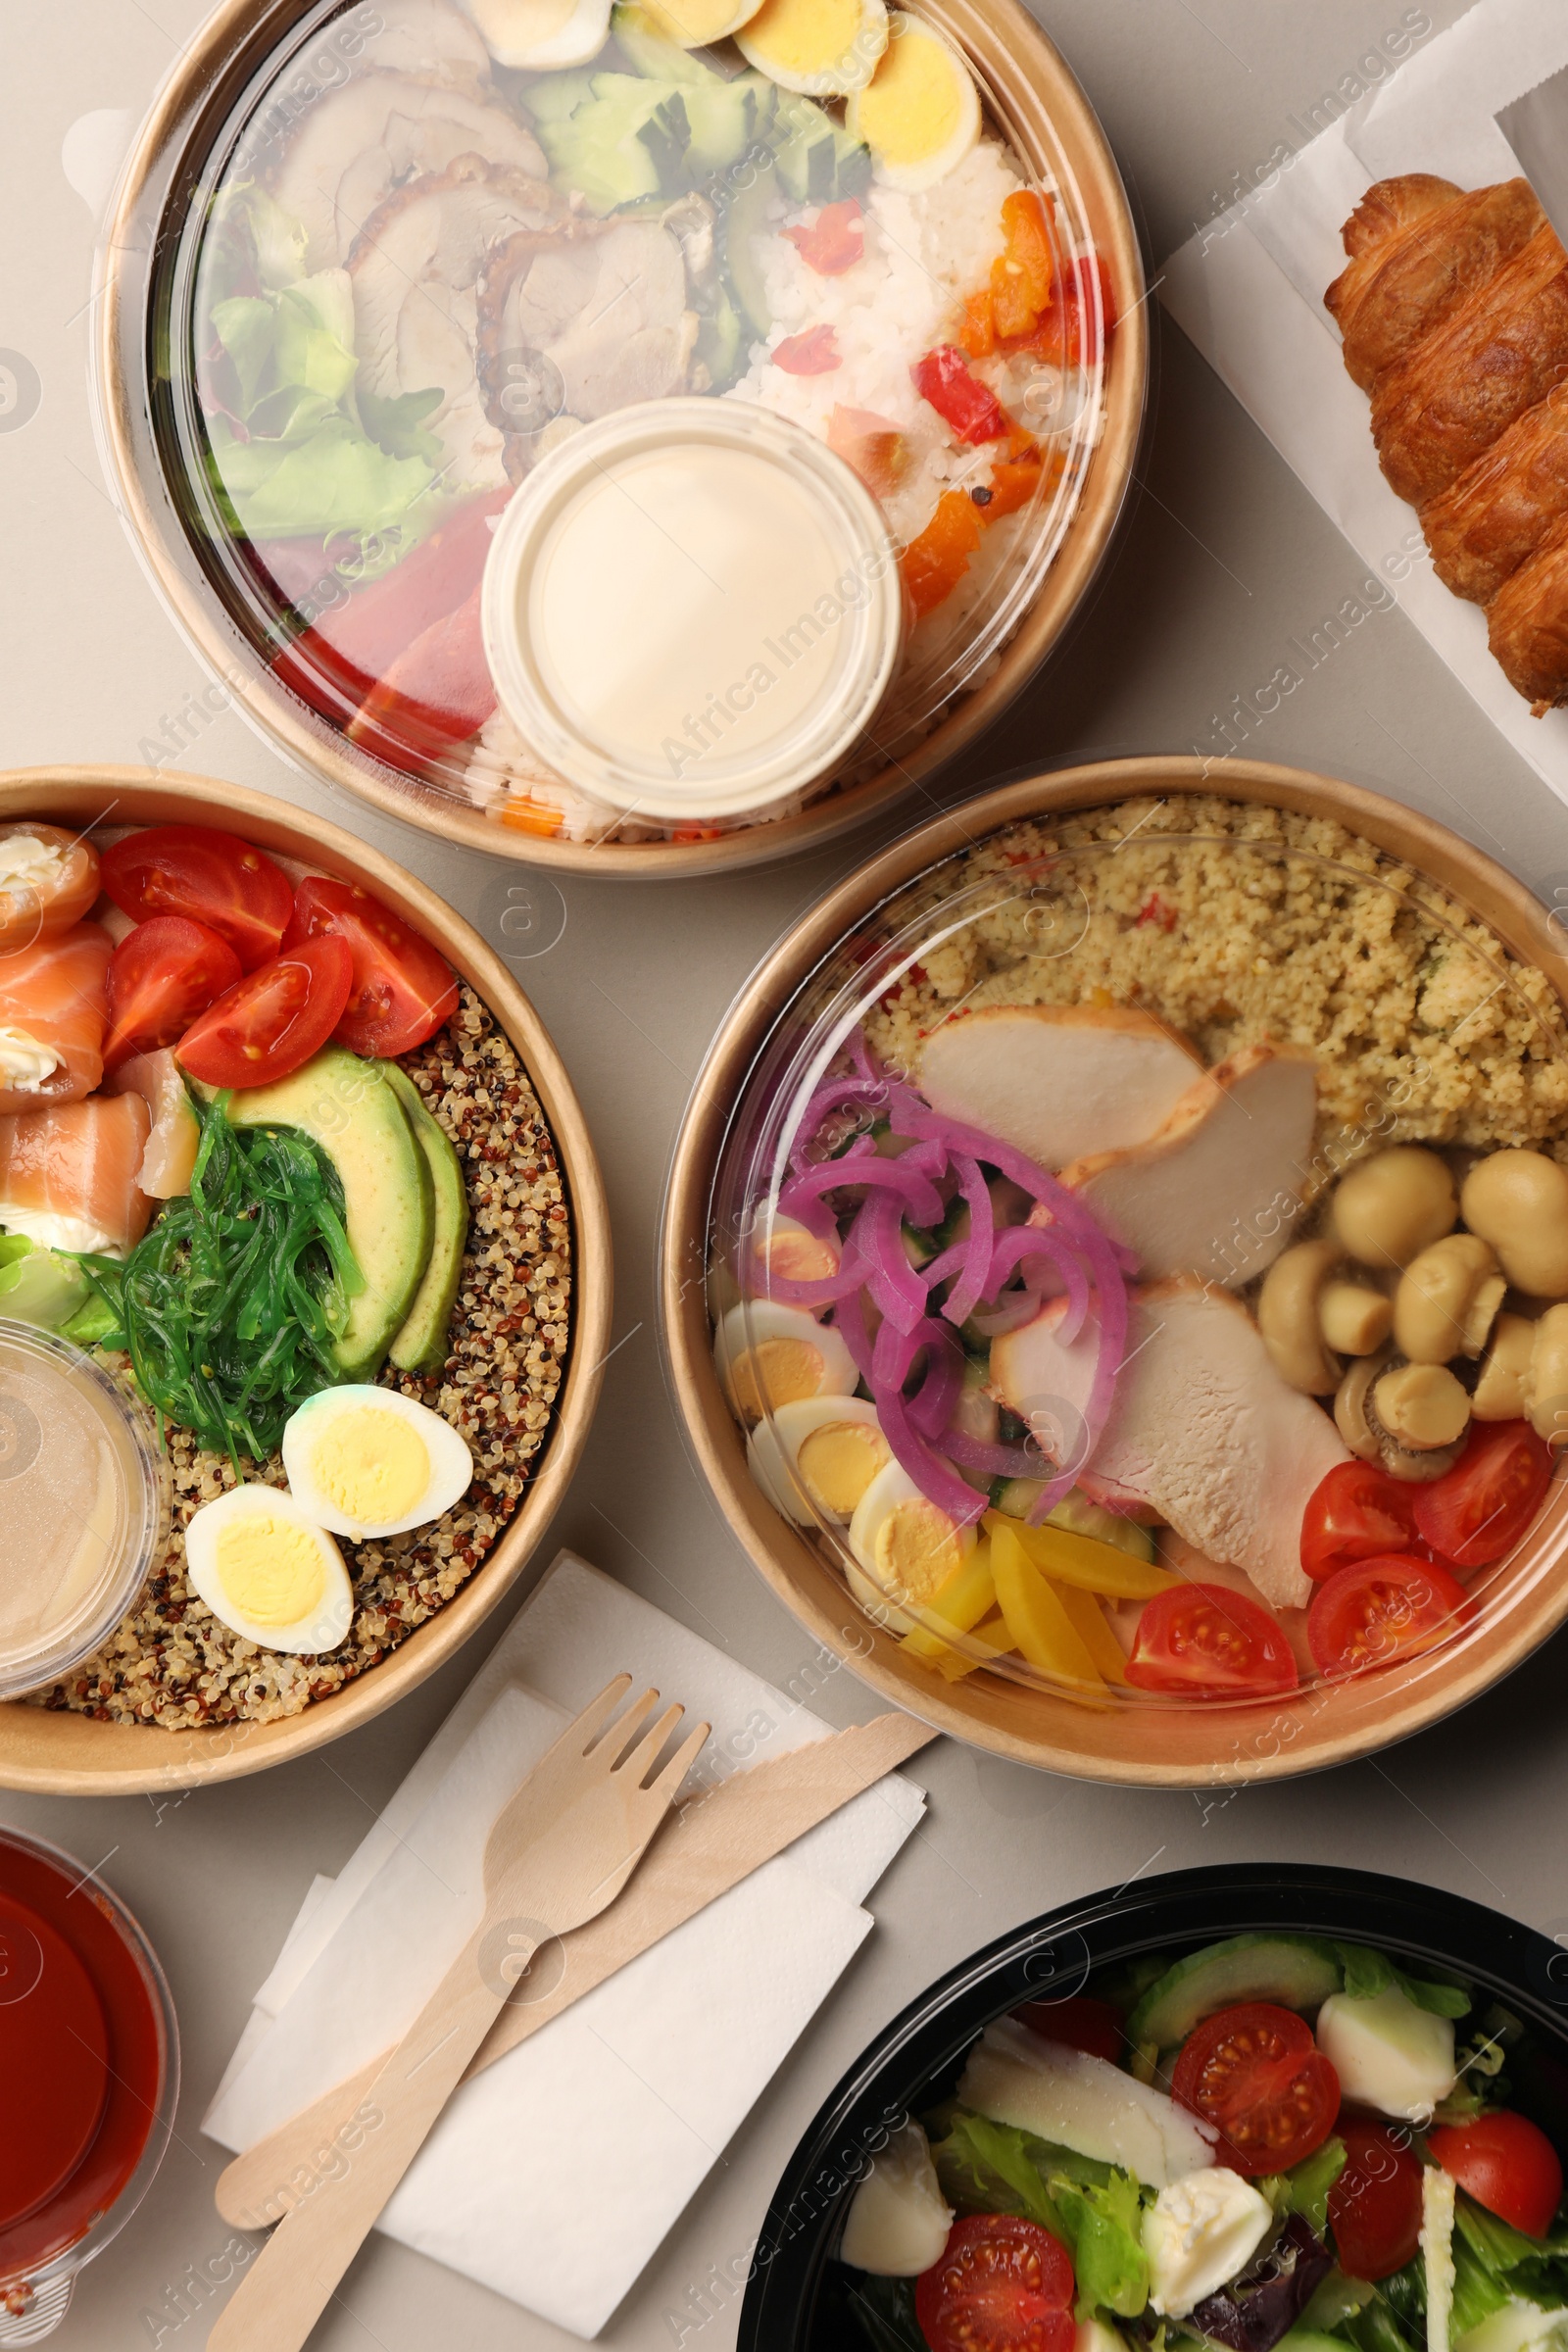
[[[1568,520],[1568,383],[1526,409],[1420,520],[1443,588],[1490,604],[1505,579]]]

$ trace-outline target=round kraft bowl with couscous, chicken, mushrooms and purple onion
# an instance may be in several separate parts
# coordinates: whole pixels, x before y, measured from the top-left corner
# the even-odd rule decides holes
[[[1128,1755],[1173,1715],[1392,1719],[1526,1595],[1561,1616],[1552,978],[1462,856],[1335,800],[1436,828],[1121,767],[1161,781],[1006,788],[1016,821],[889,854],[750,1040],[710,1192],[712,1383],[764,1498],[731,1517],[806,1545],[905,1705],[1011,1752],[1030,1698],[1058,1752],[1063,1703]]]

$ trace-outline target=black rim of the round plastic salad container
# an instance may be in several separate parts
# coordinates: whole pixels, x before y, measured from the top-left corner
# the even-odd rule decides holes
[[[1535,2027],[1514,2105],[1568,2157],[1568,1950],[1441,1886],[1361,1870],[1246,1863],[1175,1870],[1030,1919],[959,1962],[893,2018],[823,2103],[762,2223],[738,2352],[865,2352],[835,2246],[856,2183],[886,2131],[947,2098],[969,2046],[1023,2002],[1067,1999],[1095,1969],[1138,1952],[1253,1929],[1342,1936],[1474,1978]]]

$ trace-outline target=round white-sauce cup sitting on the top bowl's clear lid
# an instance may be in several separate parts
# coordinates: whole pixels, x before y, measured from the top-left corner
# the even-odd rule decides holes
[[[649,400],[552,449],[491,541],[484,654],[524,741],[656,818],[762,809],[870,727],[903,640],[858,475],[741,400]]]

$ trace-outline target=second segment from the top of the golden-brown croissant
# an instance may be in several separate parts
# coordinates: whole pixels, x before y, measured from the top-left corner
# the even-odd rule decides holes
[[[1410,506],[1448,489],[1568,374],[1568,254],[1537,228],[1373,386],[1378,461]]]

